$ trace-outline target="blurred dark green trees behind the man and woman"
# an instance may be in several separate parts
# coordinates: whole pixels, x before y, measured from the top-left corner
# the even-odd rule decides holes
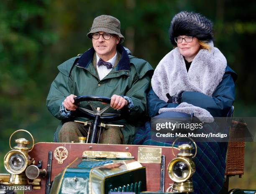
[[[200,12],[214,23],[215,46],[238,74],[236,117],[256,117],[256,1],[239,0],[4,0],[0,2],[0,161],[16,129],[51,142],[59,121],[45,106],[57,65],[89,49],[98,15],[121,22],[123,45],[156,67],[172,50],[168,29],[179,11]],[[254,65],[253,65],[254,64]],[[231,187],[256,189],[256,143],[246,144],[245,175]],[[0,170],[4,172],[3,162]]]

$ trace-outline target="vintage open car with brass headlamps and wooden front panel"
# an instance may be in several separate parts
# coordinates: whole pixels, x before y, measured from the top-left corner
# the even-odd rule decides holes
[[[77,97],[76,102],[84,100],[110,102],[108,98],[94,96]],[[34,144],[32,134],[26,130],[19,129],[11,134],[11,150],[4,158],[5,169],[10,174],[0,174],[0,193],[15,193],[15,190],[23,190],[26,194],[193,192],[195,142],[194,145],[181,144],[178,147],[97,144],[97,131],[106,126],[102,121],[120,117],[104,113],[106,109],[81,108],[94,121],[92,124],[84,122],[91,129],[88,137],[79,137],[79,143]],[[32,142],[23,137],[13,139],[20,132],[29,134]],[[243,172],[237,169],[235,172],[226,171],[226,190],[223,193],[228,192],[228,177],[239,173]],[[229,193],[253,194],[256,191],[232,189]]]

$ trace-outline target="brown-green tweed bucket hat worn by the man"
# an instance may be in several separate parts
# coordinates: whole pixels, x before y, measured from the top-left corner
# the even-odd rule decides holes
[[[92,27],[90,28],[90,32],[87,33],[87,37],[92,38],[92,34],[95,32],[106,32],[118,35],[120,37],[119,44],[121,44],[125,38],[120,32],[120,27],[120,21],[115,17],[100,15],[93,20]]]

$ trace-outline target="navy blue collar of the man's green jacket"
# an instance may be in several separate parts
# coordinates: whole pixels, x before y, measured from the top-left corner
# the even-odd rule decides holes
[[[125,51],[125,49],[122,45],[117,45],[116,49],[121,54],[120,61],[118,62],[118,65],[116,67],[117,71],[120,71],[120,70],[129,71],[130,70],[130,59],[129,59],[127,52]],[[76,65],[87,69],[87,67],[92,62],[94,53],[95,53],[94,48],[93,47],[90,48],[89,50],[84,52],[84,54],[79,58]]]

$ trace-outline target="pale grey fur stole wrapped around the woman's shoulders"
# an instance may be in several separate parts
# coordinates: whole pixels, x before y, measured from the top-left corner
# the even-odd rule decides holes
[[[181,90],[202,92],[207,96],[212,96],[212,93],[222,81],[227,60],[218,48],[213,47],[212,42],[210,45],[212,46],[210,51],[201,49],[197,53],[188,72],[178,47],[165,55],[157,65],[151,80],[152,88],[161,100],[167,102],[167,93],[174,96]],[[202,122],[214,121],[212,115],[206,109],[186,102],[182,102],[176,108],[161,108],[159,114],[167,111],[188,114],[194,112],[195,117],[198,117]]]

